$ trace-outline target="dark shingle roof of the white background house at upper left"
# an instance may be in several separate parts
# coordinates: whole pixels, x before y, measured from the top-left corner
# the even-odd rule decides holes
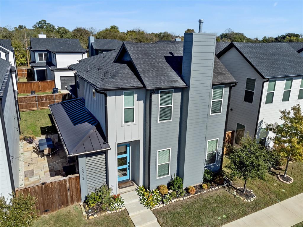
[[[53,52],[87,52],[78,39],[31,38],[32,50],[49,50]]]

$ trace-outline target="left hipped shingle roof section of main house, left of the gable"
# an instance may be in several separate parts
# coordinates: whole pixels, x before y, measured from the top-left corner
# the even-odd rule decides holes
[[[82,59],[79,63],[69,67],[76,70],[78,76],[91,82],[99,89],[143,87],[127,64],[113,62],[117,53],[117,51],[109,51],[104,55],[97,54]],[[105,78],[104,72],[106,72]]]

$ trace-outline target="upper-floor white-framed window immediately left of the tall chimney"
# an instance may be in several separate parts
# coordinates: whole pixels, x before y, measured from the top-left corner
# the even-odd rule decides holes
[[[160,91],[159,122],[172,120],[173,90]]]

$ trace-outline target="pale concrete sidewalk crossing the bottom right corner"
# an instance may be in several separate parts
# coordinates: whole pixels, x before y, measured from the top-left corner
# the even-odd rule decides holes
[[[303,193],[222,227],[290,227],[303,222]]]

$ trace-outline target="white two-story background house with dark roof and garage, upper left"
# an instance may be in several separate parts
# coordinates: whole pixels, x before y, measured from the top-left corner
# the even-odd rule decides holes
[[[75,84],[75,76],[68,66],[87,58],[87,50],[78,39],[31,38],[29,50],[35,81],[55,80],[59,90]]]

